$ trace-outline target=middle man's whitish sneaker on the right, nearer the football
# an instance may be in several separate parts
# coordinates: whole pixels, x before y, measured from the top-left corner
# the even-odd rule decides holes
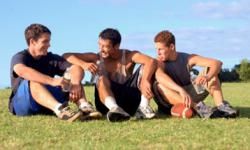
[[[155,117],[155,112],[150,106],[140,107],[137,109],[135,113],[136,119],[152,119]]]

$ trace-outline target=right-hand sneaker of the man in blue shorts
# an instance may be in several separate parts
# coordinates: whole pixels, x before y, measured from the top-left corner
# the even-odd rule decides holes
[[[89,120],[89,119],[100,119],[102,114],[96,111],[91,103],[80,107],[79,110],[82,112],[81,120]]]

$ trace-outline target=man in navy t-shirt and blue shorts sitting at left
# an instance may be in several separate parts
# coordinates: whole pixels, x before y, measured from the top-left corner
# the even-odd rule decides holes
[[[48,52],[50,30],[41,24],[31,24],[25,30],[28,48],[18,52],[11,60],[12,94],[9,110],[17,116],[55,113],[58,118],[74,121],[95,112],[81,85],[83,70],[71,65],[63,57]],[[68,70],[70,81],[62,76]],[[62,89],[69,87],[69,91]],[[68,107],[69,98],[81,111]]]

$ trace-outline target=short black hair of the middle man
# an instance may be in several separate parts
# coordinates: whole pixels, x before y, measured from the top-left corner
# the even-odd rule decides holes
[[[110,40],[115,46],[116,44],[121,43],[121,34],[117,29],[112,29],[112,28],[106,28],[104,29],[100,34],[99,37],[105,40]]]

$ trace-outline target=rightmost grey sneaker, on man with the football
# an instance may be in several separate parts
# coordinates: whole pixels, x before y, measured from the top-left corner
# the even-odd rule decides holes
[[[239,112],[229,104],[227,101],[223,101],[221,105],[217,106],[217,109],[221,112],[224,112],[225,118],[235,118],[239,115]]]

